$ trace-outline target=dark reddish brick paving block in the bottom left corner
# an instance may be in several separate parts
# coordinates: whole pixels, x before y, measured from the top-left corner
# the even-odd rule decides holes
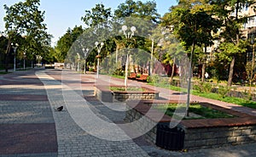
[[[0,154],[57,152],[55,124],[0,124]]]

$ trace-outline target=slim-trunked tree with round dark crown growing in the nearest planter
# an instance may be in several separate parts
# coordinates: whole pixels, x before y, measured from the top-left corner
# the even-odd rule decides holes
[[[179,1],[177,6],[171,8],[171,13],[166,14],[166,18],[163,18],[167,20],[164,22],[166,26],[174,25],[174,33],[183,42],[183,46],[190,49],[190,53],[188,53],[190,64],[186,115],[189,115],[189,93],[195,46],[210,45],[212,34],[209,32],[217,31],[217,27],[214,27],[215,20],[212,18],[212,14],[208,13],[210,8],[206,8],[203,5],[205,3],[204,0]]]

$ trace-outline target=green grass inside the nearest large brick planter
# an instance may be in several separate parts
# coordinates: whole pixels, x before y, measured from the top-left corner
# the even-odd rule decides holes
[[[172,116],[176,109],[183,108],[185,110],[186,104],[164,104],[156,106],[156,109],[160,109],[161,111],[166,110],[166,115]],[[229,115],[222,111],[211,109],[201,104],[190,104],[189,112],[193,112],[196,115],[201,115],[201,117],[184,117],[184,119],[214,119],[214,118],[232,118],[234,115]]]

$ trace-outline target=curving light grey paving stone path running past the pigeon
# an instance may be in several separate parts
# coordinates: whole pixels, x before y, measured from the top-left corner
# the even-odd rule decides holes
[[[52,81],[52,78],[49,76],[46,76],[45,74],[38,74],[44,76],[44,86],[46,87],[46,91],[48,94],[49,98],[49,103],[51,106],[56,107],[59,104],[55,104],[56,100],[63,99],[61,93],[58,92],[57,89],[55,88],[47,88],[49,85],[55,85],[56,88],[61,86],[61,83],[58,81]],[[45,81],[45,78],[49,77],[51,81]],[[61,98],[62,97],[62,98]],[[64,109],[66,108],[65,103],[63,102]],[[100,111],[97,108],[94,111],[97,113],[97,115],[101,116],[101,118],[104,118],[106,121],[110,121],[105,115],[102,115]],[[108,112],[109,113],[109,112]],[[106,155],[106,154],[117,154],[118,156],[127,156],[127,154],[131,154],[131,152],[135,152],[137,155],[139,154],[140,156],[148,156],[148,154],[143,151],[139,146],[137,146],[136,143],[134,143],[132,140],[126,141],[126,142],[113,142],[113,141],[107,141],[104,139],[99,139],[97,137],[93,137],[87,132],[84,132],[83,129],[81,129],[75,121],[73,121],[72,117],[68,114],[68,111],[63,111],[63,112],[53,112],[54,119],[55,119],[55,124],[56,124],[56,132],[57,132],[57,137],[58,137],[58,143],[61,143],[59,145],[59,151],[61,150],[61,155],[63,154],[64,156],[76,156],[84,155],[84,151],[86,150],[86,154],[91,154],[92,156],[99,156],[99,155]],[[63,144],[65,143],[65,144]],[[106,146],[110,146],[108,148],[108,151],[102,151],[106,149]],[[61,148],[63,147],[64,148]],[[69,149],[68,149],[69,148]],[[66,151],[70,152],[66,152]],[[63,152],[64,151],[64,152]],[[83,153],[82,153],[83,152]],[[104,154],[102,154],[102,152]],[[60,153],[60,152],[59,152]],[[71,154],[68,154],[71,153]]]

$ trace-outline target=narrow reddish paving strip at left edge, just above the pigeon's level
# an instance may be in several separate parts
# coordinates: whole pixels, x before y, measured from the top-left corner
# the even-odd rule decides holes
[[[48,101],[47,95],[0,94],[0,101]]]

